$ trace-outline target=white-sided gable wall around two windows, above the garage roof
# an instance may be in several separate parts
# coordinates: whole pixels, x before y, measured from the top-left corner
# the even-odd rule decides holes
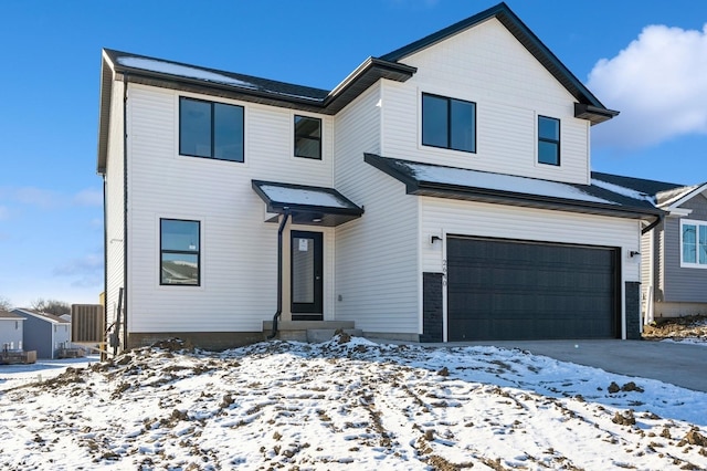
[[[418,72],[384,82],[383,155],[548,180],[589,182],[589,123],[574,97],[495,19],[405,57]],[[476,103],[476,154],[420,145],[421,93]],[[561,121],[561,166],[537,164],[537,116]]]

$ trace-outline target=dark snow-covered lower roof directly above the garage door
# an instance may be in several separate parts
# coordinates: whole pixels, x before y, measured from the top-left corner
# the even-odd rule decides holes
[[[634,219],[654,219],[663,213],[651,201],[630,198],[595,185],[563,184],[374,154],[366,154],[365,160],[405,184],[409,195]]]

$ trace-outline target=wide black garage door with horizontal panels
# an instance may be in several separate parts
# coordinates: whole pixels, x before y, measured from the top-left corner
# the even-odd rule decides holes
[[[616,250],[447,238],[447,339],[615,338]]]

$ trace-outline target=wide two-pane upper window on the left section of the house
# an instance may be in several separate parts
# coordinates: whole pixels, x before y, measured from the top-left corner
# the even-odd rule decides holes
[[[179,98],[179,154],[243,161],[243,106]]]

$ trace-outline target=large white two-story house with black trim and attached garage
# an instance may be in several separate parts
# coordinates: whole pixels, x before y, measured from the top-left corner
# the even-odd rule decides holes
[[[106,318],[120,346],[355,326],[639,338],[641,231],[591,185],[608,109],[505,4],[318,90],[103,51]],[[606,124],[611,125],[611,124]]]

